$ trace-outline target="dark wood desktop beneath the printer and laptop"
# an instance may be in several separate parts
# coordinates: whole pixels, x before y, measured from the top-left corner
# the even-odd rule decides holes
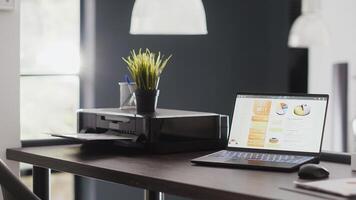
[[[291,192],[297,173],[193,166],[209,152],[170,155],[84,153],[79,145],[8,149],[7,158],[43,168],[197,199],[340,199]],[[322,162],[330,178],[356,176],[349,165]],[[302,190],[299,190],[302,191]],[[310,195],[312,194],[312,195]]]

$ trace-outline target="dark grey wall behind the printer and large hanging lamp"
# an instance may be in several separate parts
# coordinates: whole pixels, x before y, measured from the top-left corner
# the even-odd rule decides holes
[[[291,3],[300,6],[299,1],[203,0],[209,31],[204,36],[129,35],[133,2],[96,1],[94,84],[81,83],[94,97],[83,94],[82,105],[118,107],[117,82],[127,74],[121,57],[139,48],[173,54],[161,78],[159,107],[232,114],[239,91],[290,91],[290,72],[299,66],[291,63],[287,38]],[[306,77],[296,81],[305,87]],[[298,88],[296,81],[293,87]],[[134,188],[96,184],[97,197],[104,200],[135,199],[138,194]]]

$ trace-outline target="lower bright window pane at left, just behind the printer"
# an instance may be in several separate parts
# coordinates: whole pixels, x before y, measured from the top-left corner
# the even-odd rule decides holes
[[[44,133],[76,132],[77,76],[25,76],[20,83],[21,139],[49,138]]]

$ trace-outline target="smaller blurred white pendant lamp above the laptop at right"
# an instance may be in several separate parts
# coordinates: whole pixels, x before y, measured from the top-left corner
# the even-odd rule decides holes
[[[327,46],[328,44],[329,33],[320,15],[320,1],[303,0],[302,15],[292,25],[288,46],[309,48],[311,46]]]

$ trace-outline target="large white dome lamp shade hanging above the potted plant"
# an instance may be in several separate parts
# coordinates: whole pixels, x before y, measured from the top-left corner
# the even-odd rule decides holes
[[[204,35],[206,15],[202,0],[136,0],[131,34]]]

